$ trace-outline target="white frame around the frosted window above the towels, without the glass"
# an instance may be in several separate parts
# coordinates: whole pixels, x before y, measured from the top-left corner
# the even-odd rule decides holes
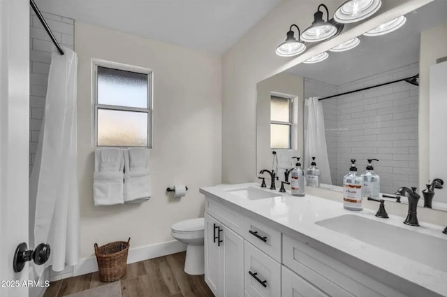
[[[141,73],[147,75],[147,108],[135,108],[130,106],[115,106],[109,104],[98,103],[98,67],[111,68],[122,71],[129,71],[133,73]],[[146,147],[152,148],[152,128],[153,128],[153,111],[154,111],[154,96],[153,83],[154,71],[149,68],[139,66],[132,66],[128,64],[117,63],[113,61],[105,61],[101,59],[91,59],[91,99],[93,105],[93,137],[92,142],[94,147]],[[119,145],[98,145],[98,110],[118,110],[118,111],[133,111],[140,113],[147,113],[147,145],[146,146],[119,146]]]

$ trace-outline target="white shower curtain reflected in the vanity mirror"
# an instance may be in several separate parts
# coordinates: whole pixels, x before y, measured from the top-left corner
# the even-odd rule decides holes
[[[305,171],[311,164],[312,157],[316,157],[316,166],[320,169],[320,182],[332,184],[326,147],[323,105],[318,97],[305,100],[307,109],[307,129],[305,131]]]

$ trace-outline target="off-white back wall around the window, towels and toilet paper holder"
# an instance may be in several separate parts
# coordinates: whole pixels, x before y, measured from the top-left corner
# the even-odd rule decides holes
[[[203,216],[198,188],[221,182],[221,57],[76,22],[80,257],[131,237],[131,249],[173,240],[170,226]],[[154,71],[152,198],[142,205],[94,207],[91,59]],[[166,187],[186,184],[181,199]]]

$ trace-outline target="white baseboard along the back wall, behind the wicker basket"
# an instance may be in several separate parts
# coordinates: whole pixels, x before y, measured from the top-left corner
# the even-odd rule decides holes
[[[186,245],[177,240],[156,243],[155,245],[147,245],[145,247],[135,247],[134,249],[129,249],[127,263],[145,261],[159,256],[166,256],[168,254],[184,251],[186,251]],[[73,276],[94,273],[95,271],[98,271],[96,257],[82,259],[78,265],[73,266]]]

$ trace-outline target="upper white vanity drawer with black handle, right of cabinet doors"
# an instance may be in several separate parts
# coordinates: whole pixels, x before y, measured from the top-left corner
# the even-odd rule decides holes
[[[244,238],[281,263],[281,232],[245,217]]]

